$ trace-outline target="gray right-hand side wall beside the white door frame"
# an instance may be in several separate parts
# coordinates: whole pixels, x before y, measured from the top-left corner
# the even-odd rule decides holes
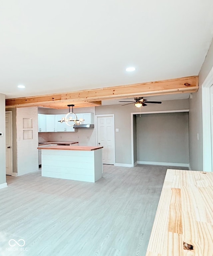
[[[203,170],[202,84],[213,67],[213,43],[199,72],[199,89],[189,100],[189,162],[194,171]],[[197,140],[199,134],[199,140]]]

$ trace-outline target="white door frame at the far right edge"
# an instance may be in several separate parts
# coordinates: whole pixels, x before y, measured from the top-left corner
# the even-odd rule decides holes
[[[213,85],[213,67],[202,84],[203,117],[203,171],[212,170],[211,100],[210,87]],[[212,170],[213,171],[213,170]]]

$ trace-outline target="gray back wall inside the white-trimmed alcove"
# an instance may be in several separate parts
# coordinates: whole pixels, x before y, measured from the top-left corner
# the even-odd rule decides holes
[[[137,161],[189,164],[188,112],[141,114]]]

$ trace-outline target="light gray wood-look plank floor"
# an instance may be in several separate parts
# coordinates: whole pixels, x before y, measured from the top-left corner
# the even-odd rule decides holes
[[[96,183],[41,177],[41,171],[7,176],[0,255],[145,255],[166,169],[184,168],[104,165]],[[10,239],[25,245],[11,247]]]

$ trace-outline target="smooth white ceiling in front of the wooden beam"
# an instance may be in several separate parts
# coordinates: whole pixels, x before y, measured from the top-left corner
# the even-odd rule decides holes
[[[198,75],[213,37],[212,13],[212,0],[3,0],[0,93],[14,98]],[[128,66],[136,71],[127,73]]]

